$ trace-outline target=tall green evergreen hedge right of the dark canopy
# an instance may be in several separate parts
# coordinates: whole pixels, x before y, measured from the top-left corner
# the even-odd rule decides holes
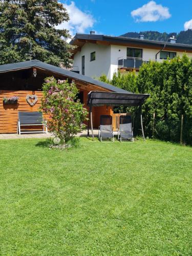
[[[129,72],[114,74],[111,81],[104,76],[100,79],[127,91],[151,95],[142,106],[145,136],[179,142],[183,114],[183,140],[192,145],[192,61],[186,55],[163,62],[144,63],[138,75]],[[135,113],[139,111],[136,109]],[[135,135],[140,133],[139,129],[137,115]]]

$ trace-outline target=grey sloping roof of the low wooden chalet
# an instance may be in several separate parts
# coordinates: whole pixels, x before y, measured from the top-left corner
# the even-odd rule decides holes
[[[6,64],[6,65],[0,65],[0,73],[5,73],[5,72],[9,72],[9,71],[17,71],[17,70],[22,70],[22,69],[29,69],[29,68],[39,68],[39,69],[43,69],[43,70],[52,71],[53,73],[64,75],[64,76],[72,78],[72,79],[77,79],[79,81],[95,84],[96,86],[108,89],[113,92],[130,93],[123,89],[112,86],[111,84],[101,82],[101,81],[95,80],[91,77],[80,75],[78,73],[53,66],[48,63],[41,62],[39,60],[29,60],[29,61]]]

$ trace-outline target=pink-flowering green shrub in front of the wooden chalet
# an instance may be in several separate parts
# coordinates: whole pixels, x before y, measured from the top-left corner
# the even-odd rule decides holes
[[[44,97],[41,110],[48,114],[48,129],[59,139],[68,142],[75,134],[85,128],[88,112],[77,100],[78,89],[68,80],[48,77],[43,84]]]

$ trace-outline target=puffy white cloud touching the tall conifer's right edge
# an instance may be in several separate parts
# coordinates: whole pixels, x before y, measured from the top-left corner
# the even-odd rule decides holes
[[[74,36],[75,33],[85,33],[88,28],[92,28],[95,19],[94,17],[88,13],[83,12],[72,1],[70,5],[63,4],[67,9],[70,20],[69,22],[64,22],[57,26],[57,29],[68,29],[70,31],[71,36]]]

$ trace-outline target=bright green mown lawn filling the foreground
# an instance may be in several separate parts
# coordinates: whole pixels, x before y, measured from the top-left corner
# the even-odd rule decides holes
[[[192,148],[0,141],[0,254],[192,255]]]

